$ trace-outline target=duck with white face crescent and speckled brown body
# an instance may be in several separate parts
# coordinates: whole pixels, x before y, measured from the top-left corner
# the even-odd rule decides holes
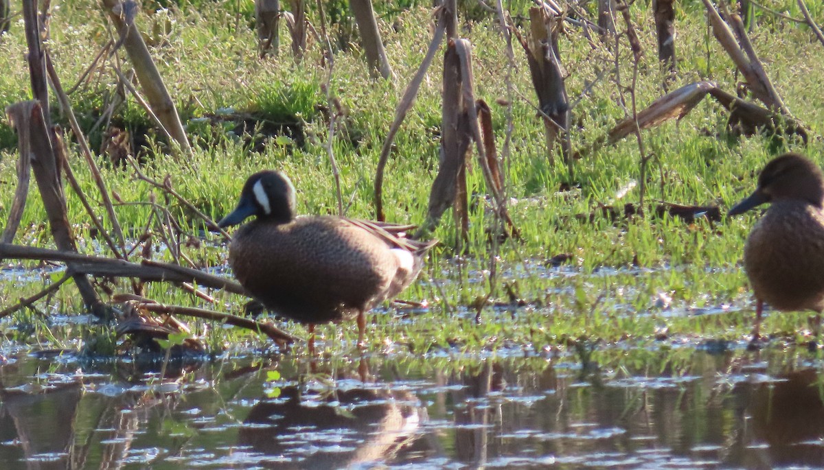
[[[260,171],[246,180],[234,212],[218,226],[240,224],[229,246],[237,280],[267,309],[309,324],[358,318],[409,286],[437,241],[405,238],[410,226],[296,216],[295,189],[286,175]]]

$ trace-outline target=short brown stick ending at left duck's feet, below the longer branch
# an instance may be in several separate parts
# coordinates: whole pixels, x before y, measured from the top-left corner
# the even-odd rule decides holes
[[[232,314],[213,312],[207,309],[197,309],[194,307],[182,307],[178,305],[159,304],[154,300],[147,299],[139,295],[117,294],[112,296],[115,302],[133,302],[138,309],[143,309],[155,314],[175,314],[196,317],[199,319],[211,320],[218,323],[227,323],[234,327],[246,328],[248,330],[264,333],[269,339],[285,346],[297,341],[296,337],[277,328],[272,323],[260,322],[253,319],[246,319]]]

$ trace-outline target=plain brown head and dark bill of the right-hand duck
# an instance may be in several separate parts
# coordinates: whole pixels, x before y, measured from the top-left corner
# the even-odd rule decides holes
[[[797,153],[775,157],[758,176],[758,187],[727,213],[735,216],[765,202],[807,202],[824,207],[824,175],[818,165]]]

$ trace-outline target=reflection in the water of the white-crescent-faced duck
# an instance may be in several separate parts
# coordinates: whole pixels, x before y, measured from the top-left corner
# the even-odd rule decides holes
[[[349,468],[391,462],[421,444],[418,398],[380,384],[337,379],[334,389],[284,386],[251,408],[238,437],[265,468]]]

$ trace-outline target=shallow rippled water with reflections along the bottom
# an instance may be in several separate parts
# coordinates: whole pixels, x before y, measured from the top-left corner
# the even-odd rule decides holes
[[[824,464],[824,362],[733,346],[599,349],[586,364],[517,351],[314,362],[250,351],[173,361],[164,379],[162,358],[7,351],[0,468]]]

